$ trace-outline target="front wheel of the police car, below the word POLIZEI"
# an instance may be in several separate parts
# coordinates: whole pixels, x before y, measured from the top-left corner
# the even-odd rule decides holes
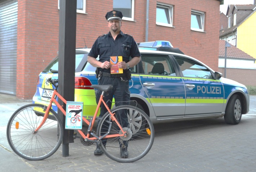
[[[242,104],[238,95],[233,95],[226,107],[224,119],[227,124],[238,124],[242,117]]]

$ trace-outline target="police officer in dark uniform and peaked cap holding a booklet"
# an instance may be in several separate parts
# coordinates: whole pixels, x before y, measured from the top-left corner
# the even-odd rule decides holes
[[[112,101],[113,96],[115,97],[116,106],[129,104],[130,91],[129,91],[129,79],[131,79],[130,67],[135,66],[141,60],[141,55],[138,50],[137,44],[133,37],[128,34],[124,34],[121,31],[122,26],[122,12],[113,10],[107,12],[106,19],[110,32],[101,35],[94,42],[90,53],[88,54],[88,62],[97,67],[96,77],[98,77],[99,85],[113,85],[113,89],[104,96],[104,101]],[[96,58],[99,55],[99,60]],[[118,68],[123,69],[122,74],[111,74],[110,73],[110,56],[123,56],[123,61],[118,63]],[[131,60],[129,61],[129,57]],[[96,100],[98,102],[101,95],[101,91],[96,91]],[[109,104],[111,108],[111,103]],[[107,112],[107,109],[101,104],[100,117]],[[123,115],[122,115],[123,114]],[[118,117],[122,127],[128,127],[127,113],[120,114]],[[102,132],[102,131],[101,131]],[[106,145],[106,140],[102,140],[102,144]],[[120,157],[128,157],[128,141],[119,141],[120,144]],[[100,147],[97,145],[94,155],[103,154]]]

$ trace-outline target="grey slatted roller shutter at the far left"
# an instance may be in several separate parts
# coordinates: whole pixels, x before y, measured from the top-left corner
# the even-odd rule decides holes
[[[0,93],[16,94],[18,1],[0,0]]]

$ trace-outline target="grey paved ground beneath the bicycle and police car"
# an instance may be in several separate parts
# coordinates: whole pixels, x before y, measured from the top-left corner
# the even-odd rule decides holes
[[[150,152],[133,163],[118,163],[106,155],[94,156],[95,145],[84,146],[80,139],[69,144],[69,157],[62,145],[41,161],[20,158],[6,139],[10,116],[32,103],[0,94],[0,170],[4,172],[109,172],[109,171],[220,171],[256,170],[256,96],[250,96],[250,112],[238,125],[226,125],[224,118],[162,123],[154,125],[155,141]]]

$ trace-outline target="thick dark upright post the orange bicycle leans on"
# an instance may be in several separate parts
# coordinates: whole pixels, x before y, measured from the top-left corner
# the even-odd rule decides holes
[[[58,92],[67,101],[74,101],[75,95],[75,49],[76,49],[76,0],[59,1],[59,69]],[[60,99],[58,103],[66,104]],[[63,126],[66,117],[58,110]],[[65,129],[65,128],[64,128]],[[74,130],[64,130],[62,156],[69,156],[69,143],[74,142]]]

